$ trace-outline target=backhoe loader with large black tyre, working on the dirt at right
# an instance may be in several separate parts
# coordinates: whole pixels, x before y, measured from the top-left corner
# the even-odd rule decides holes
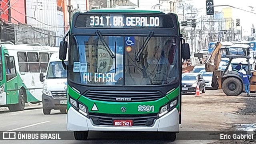
[[[229,62],[224,71],[218,70],[219,64],[222,58],[222,52],[226,53],[226,58],[229,58]],[[250,70],[250,56],[249,47],[244,50],[246,52],[243,56],[229,54],[228,48],[222,48],[222,44],[217,42],[211,56],[205,62],[205,71],[213,72],[212,74],[212,88],[221,89],[227,96],[238,96],[243,91],[243,80],[240,74],[236,71],[228,71],[228,68],[234,58],[246,58],[248,64],[248,74],[251,74]],[[250,79],[250,91],[256,91],[256,74]]]

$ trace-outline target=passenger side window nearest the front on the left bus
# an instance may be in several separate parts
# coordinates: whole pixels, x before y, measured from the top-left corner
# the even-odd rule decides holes
[[[28,59],[26,52],[18,52],[18,63],[20,72],[28,72]]]

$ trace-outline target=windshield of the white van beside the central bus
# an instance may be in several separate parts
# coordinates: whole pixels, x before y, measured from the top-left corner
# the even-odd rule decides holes
[[[65,64],[68,62],[65,61]],[[67,78],[67,71],[64,70],[61,62],[50,62],[46,79]]]

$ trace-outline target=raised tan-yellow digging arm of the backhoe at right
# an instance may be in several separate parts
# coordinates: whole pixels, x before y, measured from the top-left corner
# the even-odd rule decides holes
[[[213,72],[214,70],[218,70],[220,61],[221,61],[221,43],[217,42],[215,44],[215,48],[210,55],[210,57],[205,62],[205,71],[206,72]]]

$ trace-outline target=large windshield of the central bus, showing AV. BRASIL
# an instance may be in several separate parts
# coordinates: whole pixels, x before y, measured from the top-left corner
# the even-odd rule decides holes
[[[68,77],[76,83],[93,85],[159,85],[178,78],[178,49],[174,37],[102,36],[115,54],[111,58],[98,36],[74,36]],[[135,55],[142,50],[139,59]]]

